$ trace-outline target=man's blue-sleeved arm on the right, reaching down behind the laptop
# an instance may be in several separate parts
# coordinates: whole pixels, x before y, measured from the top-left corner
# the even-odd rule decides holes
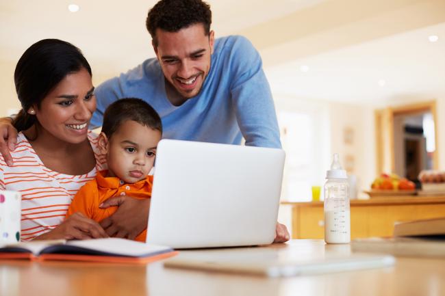
[[[277,115],[262,60],[251,42],[236,36],[233,44],[231,96],[248,146],[281,148]]]

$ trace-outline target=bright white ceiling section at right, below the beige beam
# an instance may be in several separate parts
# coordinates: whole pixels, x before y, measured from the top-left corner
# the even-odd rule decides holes
[[[431,43],[433,34],[442,38]],[[366,105],[445,97],[445,23],[303,57],[267,73],[275,96]]]

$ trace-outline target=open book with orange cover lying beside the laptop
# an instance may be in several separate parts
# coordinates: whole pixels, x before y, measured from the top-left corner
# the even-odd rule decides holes
[[[0,247],[0,259],[149,263],[176,254],[170,247],[116,238],[30,241]]]

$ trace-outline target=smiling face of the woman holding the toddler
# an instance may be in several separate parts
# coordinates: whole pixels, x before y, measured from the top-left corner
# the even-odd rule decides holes
[[[91,75],[85,68],[66,75],[42,100],[40,108],[34,106],[38,122],[57,139],[71,144],[83,142],[96,110],[93,90]]]

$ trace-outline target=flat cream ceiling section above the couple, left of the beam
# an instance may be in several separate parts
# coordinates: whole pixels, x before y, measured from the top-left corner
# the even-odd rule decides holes
[[[145,28],[156,0],[0,0],[0,59],[17,61],[32,43],[60,38],[78,46],[95,73],[128,70],[154,57]],[[270,21],[320,0],[212,0],[217,36]],[[80,9],[72,13],[68,4]],[[255,8],[255,13],[252,9]],[[247,16],[247,17],[246,17]]]

